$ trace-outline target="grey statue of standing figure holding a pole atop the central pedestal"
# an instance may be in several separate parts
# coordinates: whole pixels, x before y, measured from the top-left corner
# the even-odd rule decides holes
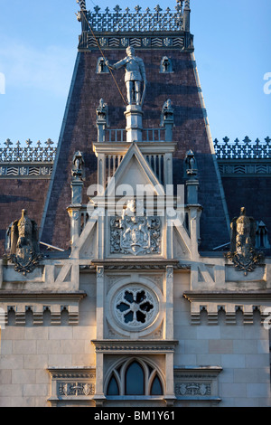
[[[135,56],[134,47],[127,47],[126,58],[118,61],[114,65],[110,65],[109,61],[106,61],[108,68],[112,70],[119,70],[125,67],[126,69],[126,92],[128,104],[142,106],[145,100],[145,89],[146,89],[146,78],[145,78],[145,65],[144,61]],[[143,86],[143,87],[142,87]]]

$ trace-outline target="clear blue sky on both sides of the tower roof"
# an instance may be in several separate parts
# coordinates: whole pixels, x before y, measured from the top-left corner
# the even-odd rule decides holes
[[[0,145],[6,138],[57,142],[77,54],[79,5],[76,0],[0,1],[0,76],[5,76]],[[174,0],[86,1],[88,9],[176,5]],[[271,94],[264,92],[264,76],[271,73],[270,0],[191,0],[191,7],[212,137],[271,137]]]

